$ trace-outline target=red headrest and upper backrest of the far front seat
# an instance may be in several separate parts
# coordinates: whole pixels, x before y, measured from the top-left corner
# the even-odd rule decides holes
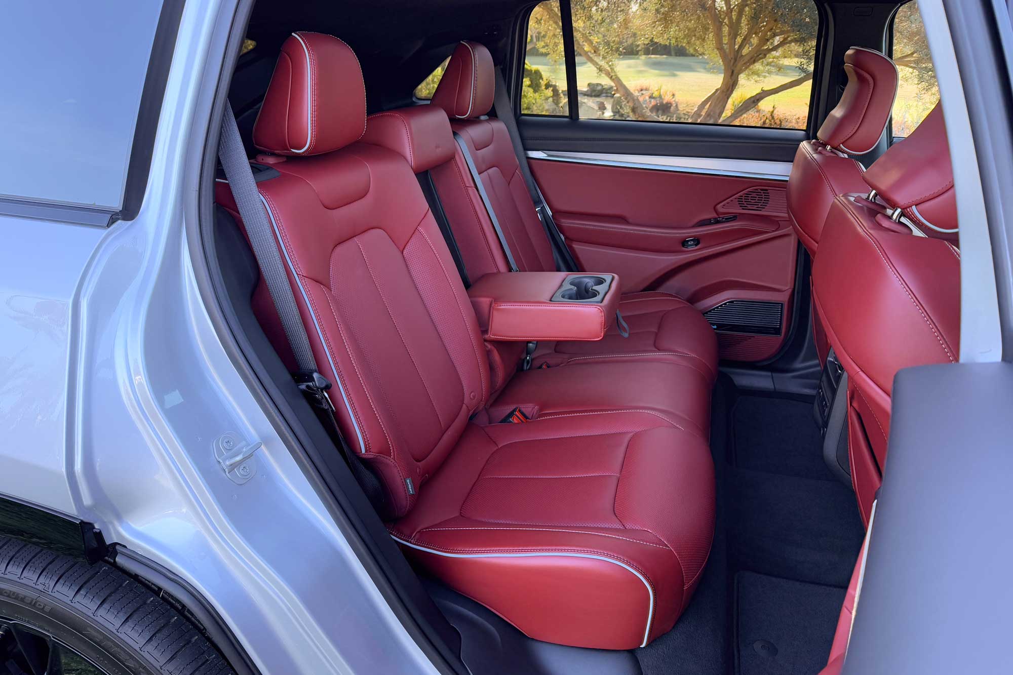
[[[844,55],[848,85],[816,140],[798,146],[788,180],[788,213],[799,240],[814,255],[830,205],[838,195],[865,192],[861,155],[879,142],[897,94],[893,62],[853,47]]]

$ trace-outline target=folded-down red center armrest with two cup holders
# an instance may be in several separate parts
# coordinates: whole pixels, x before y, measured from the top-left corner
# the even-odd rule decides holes
[[[490,341],[596,341],[616,320],[613,274],[502,272],[468,289],[482,336]]]

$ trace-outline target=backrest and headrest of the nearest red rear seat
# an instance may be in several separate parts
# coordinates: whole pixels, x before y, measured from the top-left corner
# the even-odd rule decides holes
[[[411,167],[396,152],[357,143],[365,122],[352,51],[330,35],[289,38],[254,141],[275,154],[314,156],[272,163],[281,175],[257,186],[317,364],[336,385],[342,432],[385,483],[386,515],[401,516],[484,406],[489,373]],[[227,189],[219,198],[231,204]]]

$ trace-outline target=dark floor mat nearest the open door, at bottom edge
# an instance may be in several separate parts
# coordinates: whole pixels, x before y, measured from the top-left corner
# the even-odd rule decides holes
[[[737,675],[814,675],[827,665],[845,590],[735,575]]]

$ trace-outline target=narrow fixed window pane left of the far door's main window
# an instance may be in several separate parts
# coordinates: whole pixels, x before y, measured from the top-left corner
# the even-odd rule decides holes
[[[543,2],[532,10],[525,46],[522,114],[569,115],[561,26],[557,0]]]

